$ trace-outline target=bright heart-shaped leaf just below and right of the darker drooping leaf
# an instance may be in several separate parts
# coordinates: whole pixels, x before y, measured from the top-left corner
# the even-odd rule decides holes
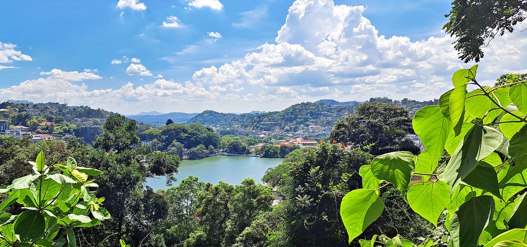
[[[410,208],[437,227],[437,219],[450,203],[450,187],[443,181],[414,184],[406,198]]]

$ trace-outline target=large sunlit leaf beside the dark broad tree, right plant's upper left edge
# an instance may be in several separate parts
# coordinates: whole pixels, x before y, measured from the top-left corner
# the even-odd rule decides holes
[[[415,113],[412,125],[431,160],[437,161],[443,154],[448,132],[452,129],[450,121],[441,113],[439,106],[430,105]]]

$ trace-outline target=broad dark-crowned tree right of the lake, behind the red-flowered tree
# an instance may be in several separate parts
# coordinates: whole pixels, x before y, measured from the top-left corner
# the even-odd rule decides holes
[[[419,153],[406,137],[413,133],[412,117],[406,108],[379,102],[366,103],[335,125],[329,139],[363,149],[373,155],[394,151]]]

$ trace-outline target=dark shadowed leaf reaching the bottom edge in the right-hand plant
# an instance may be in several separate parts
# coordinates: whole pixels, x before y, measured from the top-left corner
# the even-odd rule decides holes
[[[483,229],[492,222],[494,199],[490,195],[472,197],[452,216],[450,235],[454,247],[476,246]]]

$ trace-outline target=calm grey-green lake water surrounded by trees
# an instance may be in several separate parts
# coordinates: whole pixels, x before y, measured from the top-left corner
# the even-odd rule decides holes
[[[178,181],[172,185],[178,185],[182,179],[186,179],[190,175],[199,177],[200,181],[213,184],[217,184],[220,180],[229,184],[240,184],[247,177],[251,177],[257,183],[262,183],[261,179],[267,169],[280,163],[282,163],[282,159],[223,155],[207,157],[202,160],[183,160],[180,162],[178,174],[175,174]],[[148,179],[146,185],[155,191],[167,189],[166,183],[165,177],[159,177]]]

